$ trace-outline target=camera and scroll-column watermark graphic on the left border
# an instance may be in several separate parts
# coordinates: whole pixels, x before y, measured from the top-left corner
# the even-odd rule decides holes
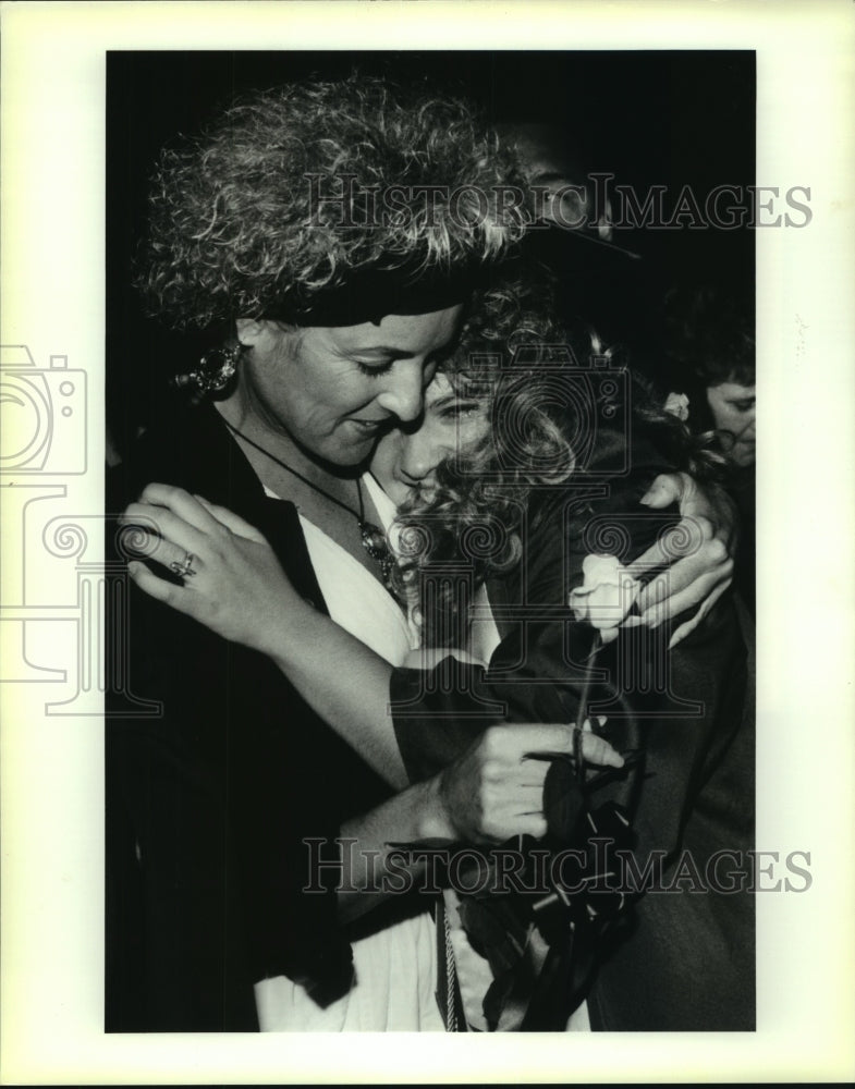
[[[47,715],[101,715],[110,685],[125,713],[158,714],[124,690],[129,576],[123,559],[103,562],[105,515],[84,513],[77,494],[88,468],[86,371],[59,354],[39,367],[25,344],[2,345],[0,358],[0,682],[64,686],[46,699]]]

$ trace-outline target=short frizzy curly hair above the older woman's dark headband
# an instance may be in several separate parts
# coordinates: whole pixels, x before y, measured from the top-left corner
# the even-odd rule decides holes
[[[489,264],[525,230],[509,185],[525,192],[514,154],[462,100],[378,77],[290,84],[162,152],[137,285],[151,316],[206,329],[377,267]]]

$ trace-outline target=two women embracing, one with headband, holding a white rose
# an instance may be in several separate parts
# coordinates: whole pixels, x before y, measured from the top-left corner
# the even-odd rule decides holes
[[[561,320],[529,186],[366,76],[161,156],[138,287],[208,347],[108,484],[109,1031],[754,1027],[747,892],[452,880],[753,846],[723,458]]]

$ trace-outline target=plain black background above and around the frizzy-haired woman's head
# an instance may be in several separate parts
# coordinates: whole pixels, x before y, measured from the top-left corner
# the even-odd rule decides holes
[[[755,54],[749,51],[608,52],[111,52],[107,58],[107,419],[121,452],[157,408],[168,377],[201,350],[146,321],[131,286],[157,156],[235,97],[353,69],[423,81],[476,99],[496,124],[547,122],[570,158],[644,195],[665,185],[755,182]],[[562,274],[572,308],[636,345],[656,365],[665,286],[717,281],[754,290],[749,229],[619,232],[622,254],[550,231],[538,240]]]

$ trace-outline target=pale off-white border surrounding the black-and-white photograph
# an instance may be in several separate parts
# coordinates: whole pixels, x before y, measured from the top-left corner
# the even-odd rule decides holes
[[[5,1084],[847,1080],[855,1076],[853,489],[855,4],[7,3],[2,343],[85,371],[87,461],[26,502],[102,511],[105,60],[146,49],[754,49],[757,182],[810,189],[804,229],[758,230],[757,846],[810,853],[811,886],[757,900],[755,1033],[413,1039],[102,1031],[102,724],[46,715],[45,641],[68,657],[62,582],[26,502],[3,526],[2,1067]],[[56,364],[61,367],[61,362]],[[17,481],[15,481],[17,484]],[[40,490],[39,490],[40,489]],[[61,489],[64,489],[62,491]],[[100,559],[96,523],[86,562]],[[84,523],[85,527],[85,523]],[[61,548],[62,542],[58,547]],[[76,546],[75,546],[76,547]],[[56,556],[56,553],[52,553]],[[42,596],[24,601],[34,571]],[[78,564],[78,571],[80,571]],[[19,585],[20,583],[20,585]],[[88,584],[87,584],[88,585]],[[21,597],[19,601],[16,595]],[[21,646],[15,609],[62,602]],[[38,625],[36,625],[38,626]],[[7,631],[9,629],[9,631]],[[32,631],[32,628],[30,628]],[[11,633],[11,634],[10,634]],[[39,653],[42,654],[39,658]],[[11,668],[11,666],[10,666]],[[29,682],[29,683],[25,683]],[[703,980],[697,981],[703,986]]]

